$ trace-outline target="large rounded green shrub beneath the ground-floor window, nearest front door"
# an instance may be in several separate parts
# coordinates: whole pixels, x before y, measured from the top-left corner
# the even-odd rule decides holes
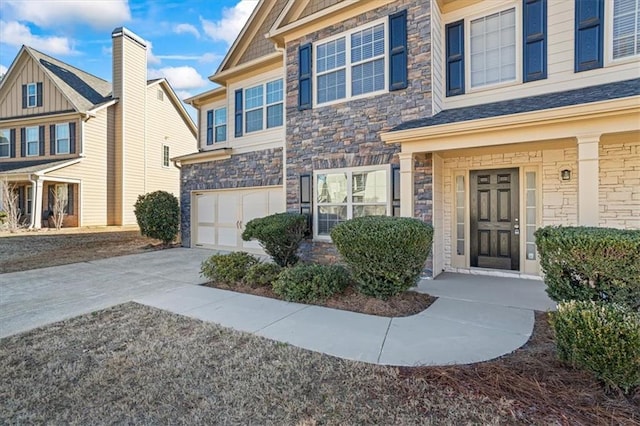
[[[433,228],[418,219],[365,216],[331,230],[358,291],[388,298],[413,287],[431,250]]]

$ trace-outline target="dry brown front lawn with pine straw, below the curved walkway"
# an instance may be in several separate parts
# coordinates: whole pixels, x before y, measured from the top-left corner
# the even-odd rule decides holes
[[[498,360],[341,360],[128,303],[0,340],[0,424],[640,424],[555,361],[545,314]]]

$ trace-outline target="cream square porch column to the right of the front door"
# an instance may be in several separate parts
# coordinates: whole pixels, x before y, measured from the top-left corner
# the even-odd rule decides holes
[[[600,224],[600,135],[578,136],[578,225]]]

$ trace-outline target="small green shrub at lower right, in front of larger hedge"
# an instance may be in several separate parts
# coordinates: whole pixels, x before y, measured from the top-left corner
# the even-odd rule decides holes
[[[558,357],[625,393],[640,385],[640,314],[593,301],[560,303],[551,314]]]

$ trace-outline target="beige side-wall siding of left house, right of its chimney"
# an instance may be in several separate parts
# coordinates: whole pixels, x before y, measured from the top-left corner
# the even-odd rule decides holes
[[[158,99],[158,90],[163,100]],[[170,157],[189,154],[197,149],[196,138],[178,112],[169,93],[160,84],[147,88],[146,192],[164,190],[180,196],[180,170],[173,162],[162,165],[163,146],[169,147]]]

